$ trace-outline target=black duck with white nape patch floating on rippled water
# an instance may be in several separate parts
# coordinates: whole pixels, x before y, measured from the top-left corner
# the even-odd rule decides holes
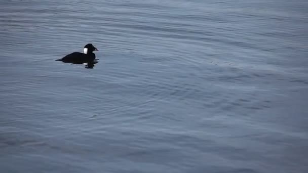
[[[93,51],[98,50],[92,44],[88,44],[84,47],[84,53],[73,52],[58,61],[74,64],[93,63],[95,60],[95,54]]]

